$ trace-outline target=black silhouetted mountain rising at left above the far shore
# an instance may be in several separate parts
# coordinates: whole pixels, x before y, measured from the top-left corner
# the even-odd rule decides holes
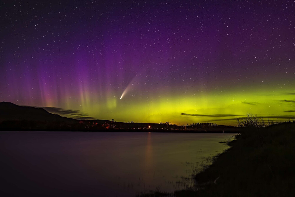
[[[0,102],[0,122],[3,121],[46,121],[46,122],[76,122],[78,120],[50,114],[45,109],[19,106],[9,102]]]

